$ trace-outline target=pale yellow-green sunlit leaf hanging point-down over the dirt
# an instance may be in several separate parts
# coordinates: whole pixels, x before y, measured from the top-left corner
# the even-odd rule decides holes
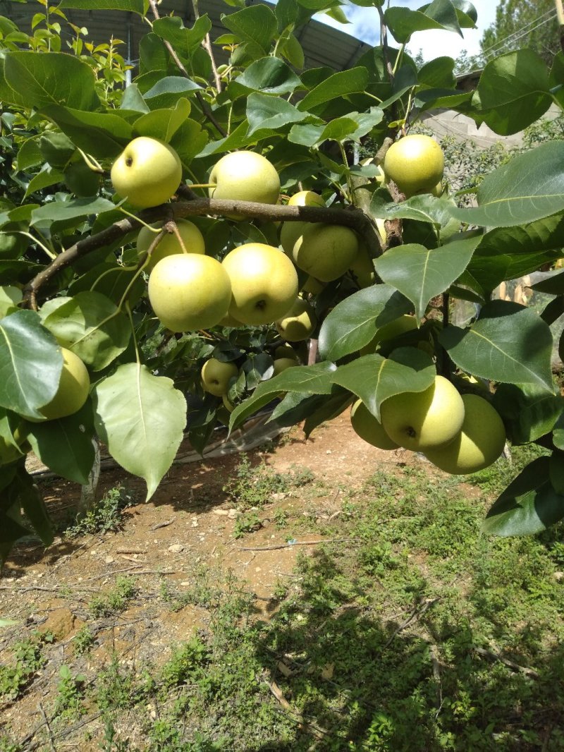
[[[96,384],[93,397],[99,437],[127,472],[144,478],[150,499],[183,439],[183,394],[171,379],[127,363]]]

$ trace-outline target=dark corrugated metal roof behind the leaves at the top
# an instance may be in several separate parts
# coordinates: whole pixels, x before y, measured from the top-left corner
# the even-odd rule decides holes
[[[247,5],[251,5],[247,2]],[[263,3],[274,8],[274,5]],[[0,15],[13,20],[21,29],[31,29],[32,17],[42,12],[41,6],[36,2],[13,2],[13,0],[0,0]],[[211,19],[212,29],[210,32],[212,42],[226,32],[220,23],[222,14],[230,14],[238,11],[222,0],[201,0],[199,4],[200,15],[208,14]],[[194,23],[194,11],[192,0],[163,0],[159,4],[159,14],[174,15],[182,18],[185,26]],[[74,8],[65,9],[65,15],[75,26],[86,26],[89,32],[89,40],[97,44],[107,42],[113,36],[123,40],[124,47],[120,53],[131,61],[138,58],[139,41],[141,37],[150,31],[147,23],[138,14],[126,11],[82,11]],[[70,41],[71,29],[62,29],[63,38]],[[310,20],[305,26],[297,29],[296,36],[305,53],[305,68],[320,68],[326,66],[335,71],[343,71],[352,68],[359,57],[370,49],[369,44],[359,41],[338,29],[320,21]],[[217,50],[216,59],[218,65],[227,62],[227,53],[221,47]]]

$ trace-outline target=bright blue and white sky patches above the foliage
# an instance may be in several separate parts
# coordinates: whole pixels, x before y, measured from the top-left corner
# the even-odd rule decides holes
[[[456,58],[462,50],[466,50],[470,56],[479,53],[482,34],[495,20],[498,3],[496,0],[472,0],[472,3],[478,13],[477,29],[462,29],[463,39],[453,32],[417,32],[408,44],[411,55],[415,56],[421,50],[423,59],[427,62],[444,55]],[[391,3],[394,6],[411,8],[412,11],[417,10],[423,4],[424,0],[392,0]],[[378,43],[380,22],[376,8],[343,5],[342,9],[350,23],[338,23],[325,14],[319,14],[315,18],[368,44]]]

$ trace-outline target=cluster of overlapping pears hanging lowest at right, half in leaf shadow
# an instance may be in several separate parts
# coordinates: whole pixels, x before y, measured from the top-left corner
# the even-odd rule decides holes
[[[417,326],[405,315],[378,330],[365,353],[381,341],[395,338]],[[469,384],[478,383],[472,377]],[[360,438],[380,449],[398,447],[423,453],[444,472],[466,475],[482,470],[498,459],[505,447],[505,426],[485,396],[460,394],[451,381],[436,375],[422,392],[403,392],[385,399],[380,420],[357,399],[350,423]]]

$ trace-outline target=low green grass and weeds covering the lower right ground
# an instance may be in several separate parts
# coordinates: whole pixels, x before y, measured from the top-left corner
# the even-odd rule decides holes
[[[513,461],[514,473],[524,453]],[[244,467],[267,476],[268,493],[278,483],[269,469]],[[92,743],[108,752],[562,750],[562,525],[487,537],[480,523],[508,468],[485,476],[487,496],[477,482],[428,471],[378,470],[341,494],[341,514],[316,530],[346,540],[299,553],[293,576],[273,587],[268,620],[246,582],[202,562],[187,590],[116,581],[99,596],[104,613],[147,596],[198,609],[205,627],[159,651],[154,666],[116,653],[92,686],[67,655],[57,723],[83,706],[102,713]],[[286,515],[280,523],[284,534],[299,529]],[[84,661],[92,635],[79,634]],[[18,655],[37,670],[35,647]],[[123,735],[133,727],[141,747]],[[2,744],[13,752],[11,738]]]

